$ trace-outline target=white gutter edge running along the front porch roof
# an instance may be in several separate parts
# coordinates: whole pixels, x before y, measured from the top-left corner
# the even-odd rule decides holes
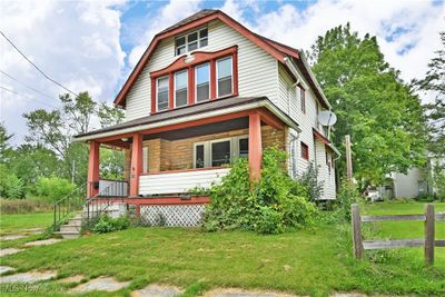
[[[210,118],[210,117],[216,117],[216,116],[222,116],[222,115],[228,115],[228,113],[234,113],[234,112],[238,112],[238,111],[245,111],[245,110],[261,108],[261,107],[267,108],[270,112],[273,112],[275,116],[277,116],[280,120],[283,120],[283,122],[285,122],[290,128],[294,128],[298,132],[301,131],[301,129],[299,129],[299,127],[296,122],[290,120],[277,107],[275,107],[269,100],[263,100],[259,102],[253,102],[253,103],[243,105],[243,106],[235,106],[235,107],[225,108],[225,109],[220,109],[220,110],[212,110],[212,111],[192,115],[192,116],[188,116],[188,117],[186,116],[186,117],[181,117],[181,118],[175,118],[171,120],[164,120],[164,121],[159,121],[159,122],[128,127],[128,128],[123,128],[123,129],[119,129],[119,130],[112,130],[112,131],[106,131],[106,132],[100,132],[100,133],[95,133],[95,135],[75,137],[72,141],[73,142],[89,141],[89,140],[95,140],[98,138],[118,136],[121,133],[131,133],[131,132],[137,132],[140,130],[149,130],[149,129],[159,128],[159,127],[164,127],[164,126],[170,126],[170,125],[176,125],[176,123],[181,123],[181,122],[187,122],[187,121],[192,121],[192,120],[199,120],[199,119],[205,119],[205,118]]]

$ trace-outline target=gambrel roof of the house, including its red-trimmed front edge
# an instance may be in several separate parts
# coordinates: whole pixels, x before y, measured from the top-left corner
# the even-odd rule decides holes
[[[200,10],[197,13],[157,33],[151,40],[147,50],[144,52],[138,63],[136,65],[129,78],[123,83],[122,89],[119,91],[118,96],[115,99],[115,106],[121,106],[121,107],[126,106],[126,97],[128,92],[130,91],[131,87],[138,79],[139,75],[142,72],[144,68],[147,66],[149,59],[151,58],[157,46],[162,39],[188,31],[195,27],[199,27],[212,20],[219,20],[225,24],[229,26],[231,29],[243,34],[245,38],[257,44],[259,48],[268,52],[270,56],[273,56],[275,59],[277,59],[279,62],[284,65],[286,65],[287,59],[291,59],[297,65],[299,71],[303,73],[305,79],[310,85],[315,96],[317,97],[322,106],[327,109],[330,109],[330,105],[327,101],[326,97],[324,96],[322,88],[319,87],[314,75],[312,73],[310,67],[306,62],[301,51],[285,46],[283,43],[279,43],[277,41],[274,41],[271,39],[265,38],[260,34],[254,33],[249,29],[244,27],[241,23],[235,21],[233,18],[224,13],[222,11],[211,10],[211,9]]]

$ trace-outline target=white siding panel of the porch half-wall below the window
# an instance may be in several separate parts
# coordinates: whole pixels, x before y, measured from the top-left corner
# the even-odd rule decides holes
[[[139,177],[139,194],[180,194],[196,187],[209,188],[212,182],[218,184],[229,171],[229,168],[222,168],[141,176]]]

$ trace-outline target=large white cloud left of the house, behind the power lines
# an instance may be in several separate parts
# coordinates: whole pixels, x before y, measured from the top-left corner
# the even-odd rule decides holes
[[[122,1],[2,1],[1,30],[50,77],[75,92],[112,101],[125,66],[119,42]],[[58,106],[63,89],[46,80],[7,41],[0,38],[0,69],[49,95],[42,97],[0,75],[0,86],[26,95],[1,91],[1,120],[21,142],[27,132],[21,115]]]

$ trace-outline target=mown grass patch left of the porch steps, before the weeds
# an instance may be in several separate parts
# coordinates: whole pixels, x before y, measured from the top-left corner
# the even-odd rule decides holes
[[[0,215],[0,235],[19,234],[30,228],[47,228],[52,222],[52,212]]]

